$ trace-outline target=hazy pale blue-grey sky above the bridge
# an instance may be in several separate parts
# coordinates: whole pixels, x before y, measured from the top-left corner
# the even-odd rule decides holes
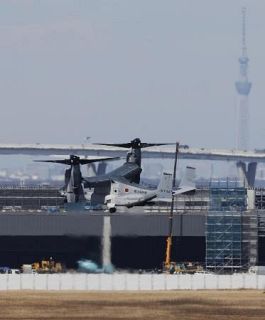
[[[0,142],[234,147],[242,5],[264,148],[264,0],[1,0]]]

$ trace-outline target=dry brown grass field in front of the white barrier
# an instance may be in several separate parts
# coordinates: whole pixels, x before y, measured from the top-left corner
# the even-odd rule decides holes
[[[265,319],[263,291],[0,293],[0,319]]]

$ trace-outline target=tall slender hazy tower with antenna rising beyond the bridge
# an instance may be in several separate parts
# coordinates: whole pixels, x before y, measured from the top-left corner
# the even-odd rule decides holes
[[[240,65],[239,81],[235,83],[238,93],[237,103],[237,149],[248,150],[248,95],[251,82],[248,81],[248,56],[246,46],[246,8],[242,8],[242,55],[238,59]]]

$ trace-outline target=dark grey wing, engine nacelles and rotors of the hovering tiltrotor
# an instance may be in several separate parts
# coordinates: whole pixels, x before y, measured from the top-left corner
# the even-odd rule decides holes
[[[84,188],[93,188],[91,204],[105,204],[106,196],[111,194],[113,184],[124,184],[138,186],[140,182],[141,168],[141,149],[153,146],[168,145],[169,143],[142,143],[139,138],[129,143],[122,144],[101,144],[107,146],[130,148],[127,153],[126,162],[117,169],[99,176],[83,177],[80,165],[93,163],[96,161],[115,160],[119,158],[101,159],[80,159],[78,156],[71,155],[70,159],[64,160],[38,160],[39,162],[52,162],[70,165],[65,172],[64,190],[67,195],[67,202],[82,202],[85,200]],[[112,189],[111,189],[112,188]],[[131,186],[130,186],[131,188]],[[114,190],[114,189],[113,189]]]

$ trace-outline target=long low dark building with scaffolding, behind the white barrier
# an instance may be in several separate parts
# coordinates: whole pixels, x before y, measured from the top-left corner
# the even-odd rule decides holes
[[[0,213],[2,265],[19,267],[50,256],[68,268],[76,268],[81,258],[100,264],[106,216],[116,268],[161,268],[165,259],[169,206],[115,214],[73,210],[65,207],[58,190],[45,188],[0,189],[0,197],[8,199],[1,202]],[[172,261],[198,262],[219,273],[244,271],[265,264],[264,236],[264,190],[198,189],[175,199]]]

